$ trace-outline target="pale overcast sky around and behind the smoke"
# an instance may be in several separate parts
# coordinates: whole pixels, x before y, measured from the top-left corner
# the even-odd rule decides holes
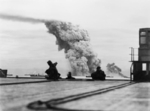
[[[115,63],[129,75],[130,47],[139,47],[139,28],[150,27],[149,4],[149,0],[0,0],[0,14],[79,25],[88,31],[102,69]],[[71,70],[64,51],[58,51],[56,38],[43,23],[0,19],[0,24],[0,68],[19,76],[44,74],[46,62],[52,60],[58,62],[62,75]]]

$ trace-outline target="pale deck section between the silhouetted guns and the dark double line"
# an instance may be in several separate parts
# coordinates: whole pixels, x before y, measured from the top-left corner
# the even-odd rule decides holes
[[[128,81],[55,81],[6,85],[0,87],[0,104],[5,111],[12,111],[13,109],[19,111],[26,107],[28,103],[36,100],[47,101],[127,82]]]

